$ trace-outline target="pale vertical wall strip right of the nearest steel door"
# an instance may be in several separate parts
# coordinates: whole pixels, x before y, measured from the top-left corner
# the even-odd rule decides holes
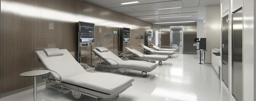
[[[242,1],[242,0],[240,0]],[[254,0],[243,0],[243,101],[254,99]],[[234,9],[235,10],[235,9]],[[234,11],[232,10],[232,11]]]

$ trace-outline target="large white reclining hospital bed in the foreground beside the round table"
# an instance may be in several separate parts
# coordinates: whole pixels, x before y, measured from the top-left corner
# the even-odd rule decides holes
[[[67,49],[50,48],[36,51],[40,61],[50,70],[46,87],[72,92],[75,98],[84,95],[109,100],[132,86],[134,79],[111,73],[90,73],[74,59]]]

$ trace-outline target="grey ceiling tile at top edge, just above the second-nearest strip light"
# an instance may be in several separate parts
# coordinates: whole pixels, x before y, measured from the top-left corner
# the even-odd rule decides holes
[[[170,1],[170,2],[159,2],[159,3],[153,3],[153,4],[155,6],[157,6],[158,9],[183,7],[181,0],[180,1]]]

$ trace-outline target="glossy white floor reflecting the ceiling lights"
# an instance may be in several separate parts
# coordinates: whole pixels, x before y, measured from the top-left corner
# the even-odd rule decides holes
[[[232,101],[211,64],[198,64],[190,54],[177,54],[141,77],[131,71],[132,86],[110,101]],[[102,72],[102,71],[96,71]],[[125,75],[119,72],[118,75]],[[104,82],[102,82],[104,83]],[[0,101],[33,101],[33,89],[3,97]],[[71,93],[38,87],[37,101],[96,101],[91,97],[75,99]],[[101,100],[104,101],[104,100]]]

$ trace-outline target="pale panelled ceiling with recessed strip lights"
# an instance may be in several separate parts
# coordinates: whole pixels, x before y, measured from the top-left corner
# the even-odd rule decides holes
[[[118,13],[141,19],[151,24],[157,22],[203,21],[206,6],[220,5],[220,0],[82,0]],[[121,5],[124,2],[135,4]],[[166,9],[175,8],[178,9]],[[166,9],[166,10],[158,10]],[[179,17],[191,16],[191,17]],[[173,17],[173,18],[160,18]],[[154,18],[154,19],[145,19]]]

